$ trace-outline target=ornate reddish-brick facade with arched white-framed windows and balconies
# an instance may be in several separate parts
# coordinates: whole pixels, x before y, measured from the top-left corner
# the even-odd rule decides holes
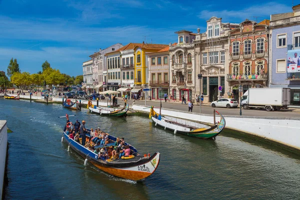
[[[238,86],[266,87],[268,73],[268,20],[246,19],[229,31],[228,94],[237,98]]]

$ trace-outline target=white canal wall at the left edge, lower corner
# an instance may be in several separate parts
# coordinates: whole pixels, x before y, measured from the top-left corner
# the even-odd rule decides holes
[[[4,198],[6,153],[7,153],[6,120],[0,120],[0,199]]]

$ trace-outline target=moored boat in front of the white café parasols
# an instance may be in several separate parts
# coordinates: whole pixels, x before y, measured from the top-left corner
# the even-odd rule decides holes
[[[126,115],[128,109],[129,109],[129,104],[125,100],[125,105],[124,107],[120,109],[114,109],[111,107],[97,107],[95,105],[92,105],[91,102],[89,101],[89,104],[87,105],[88,109],[90,112],[95,112],[100,115],[107,115],[107,116],[124,116]]]

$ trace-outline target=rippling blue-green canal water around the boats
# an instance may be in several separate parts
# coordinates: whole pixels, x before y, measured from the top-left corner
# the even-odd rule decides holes
[[[134,182],[113,177],[61,143],[65,113],[124,137],[140,153],[161,153],[157,170]],[[224,130],[215,140],[174,135],[146,116],[109,118],[60,104],[0,99],[8,133],[4,199],[299,199],[300,157]]]

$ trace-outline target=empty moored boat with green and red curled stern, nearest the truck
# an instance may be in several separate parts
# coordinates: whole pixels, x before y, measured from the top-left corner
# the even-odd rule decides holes
[[[154,111],[153,106],[151,106],[149,118],[155,123],[164,127],[164,129],[169,129],[178,132],[180,134],[198,137],[203,139],[214,138],[218,135],[225,127],[225,119],[218,112],[215,111],[220,116],[220,120],[212,125],[205,125],[203,123],[188,121],[181,118],[171,117],[171,116],[161,116]]]

